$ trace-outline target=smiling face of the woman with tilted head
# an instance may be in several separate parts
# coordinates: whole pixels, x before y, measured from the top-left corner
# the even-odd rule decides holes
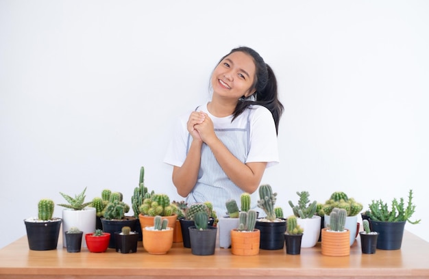
[[[238,101],[250,96],[253,88],[256,66],[252,56],[236,51],[222,59],[212,73],[213,94]]]

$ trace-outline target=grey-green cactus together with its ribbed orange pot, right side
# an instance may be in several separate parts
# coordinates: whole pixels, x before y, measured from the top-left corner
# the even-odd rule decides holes
[[[345,209],[332,209],[329,227],[322,229],[321,253],[326,256],[350,255],[350,230],[345,228]]]

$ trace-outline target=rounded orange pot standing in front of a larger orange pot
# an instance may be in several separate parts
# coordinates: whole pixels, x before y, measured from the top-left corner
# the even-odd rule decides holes
[[[149,230],[150,227],[143,230],[143,247],[149,254],[162,255],[167,254],[173,246],[173,228],[167,227],[166,230]]]

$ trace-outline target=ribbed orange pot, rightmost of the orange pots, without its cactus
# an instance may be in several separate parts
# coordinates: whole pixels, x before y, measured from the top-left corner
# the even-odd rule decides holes
[[[328,228],[321,231],[321,253],[326,256],[350,255],[350,230],[331,232]]]

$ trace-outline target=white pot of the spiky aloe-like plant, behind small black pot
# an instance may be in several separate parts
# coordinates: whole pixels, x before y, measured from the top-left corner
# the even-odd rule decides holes
[[[84,210],[62,210],[62,246],[66,247],[66,231],[75,226],[87,233],[95,232],[95,207],[85,207]],[[82,237],[82,248],[86,248],[85,237]]]

